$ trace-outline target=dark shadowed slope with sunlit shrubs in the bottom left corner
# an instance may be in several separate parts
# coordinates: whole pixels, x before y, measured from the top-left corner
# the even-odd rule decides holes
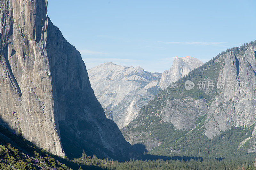
[[[0,169],[35,170],[35,169],[78,169],[80,165],[46,152],[19,135],[15,135],[0,125]],[[85,166],[85,169],[102,169]]]

